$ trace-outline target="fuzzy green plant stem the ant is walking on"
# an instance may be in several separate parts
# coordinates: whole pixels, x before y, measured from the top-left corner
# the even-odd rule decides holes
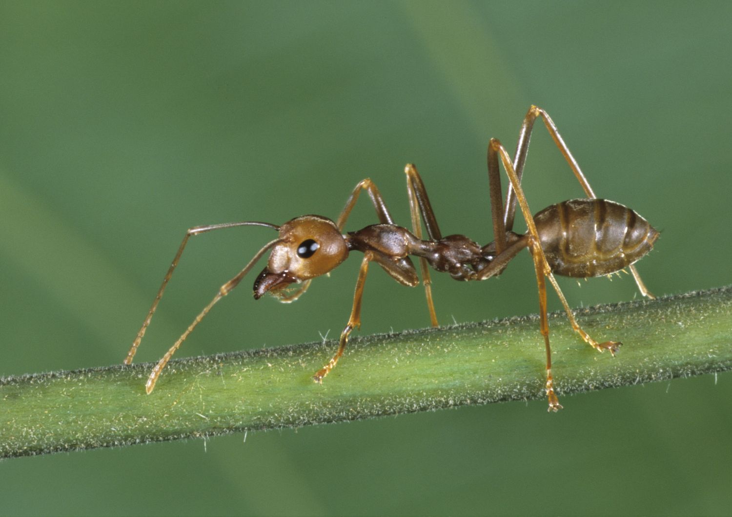
[[[575,314],[624,346],[600,355],[551,314],[560,399],[732,368],[732,287]],[[149,396],[152,363],[0,379],[0,457],[542,398],[538,328],[520,317],[354,338],[323,385],[310,376],[333,341],[171,361]]]

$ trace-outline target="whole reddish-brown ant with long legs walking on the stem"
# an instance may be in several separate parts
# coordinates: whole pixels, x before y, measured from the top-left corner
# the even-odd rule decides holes
[[[551,205],[535,216],[531,216],[526,196],[521,188],[521,176],[529,150],[531,130],[534,127],[534,121],[539,117],[564,159],[569,163],[569,167],[575,173],[587,197]],[[505,205],[501,199],[499,160],[510,181]],[[329,273],[346,260],[349,252],[363,253],[359,276],[356,280],[351,317],[340,334],[338,350],[332,359],[313,376],[315,382],[321,383],[343,355],[351,331],[361,325],[361,300],[370,263],[375,262],[380,265],[400,284],[416,287],[419,284],[419,277],[409,256],[418,257],[430,321],[436,327],[438,322],[432,300],[429,266],[435,271],[449,273],[456,280],[485,280],[501,274],[518,252],[528,248],[534,259],[534,270],[537,275],[539,331],[544,337],[546,347],[545,391],[549,401],[549,410],[556,412],[561,409],[556,393],[554,393],[551,372],[545,278],[549,279],[550,284],[559,295],[572,328],[596,350],[600,352],[609,350],[610,354],[614,356],[620,343],[616,341],[598,343],[580,328],[572,314],[572,309],[569,309],[569,304],[561,293],[554,274],[588,278],[610,275],[629,268],[641,294],[654,298],[654,295],[643,284],[633,263],[651,251],[659,233],[646,219],[630,208],[613,201],[597,199],[577,161],[559,135],[556,125],[548,113],[537,106],[531,106],[523,119],[514,159],[510,158],[504,146],[495,138],[491,138],[488,144],[490,205],[493,235],[496,239],[490,244],[479,246],[464,235],[443,237],[427,197],[427,190],[417,173],[417,167],[408,164],[405,167],[405,173],[411,213],[411,232],[405,227],[395,224],[376,184],[369,178],[356,185],[336,222],[323,216],[307,215],[291,219],[281,226],[266,222],[245,221],[197,226],[187,230],[124,363],[132,363],[132,358],[152,320],[157,304],[163,296],[165,286],[179,263],[188,239],[193,235],[239,226],[265,226],[279,232],[279,236],[265,244],[242,271],[220,287],[212,301],[203,308],[178,341],[154,366],[145,385],[147,393],[152,392],[160,372],[195,326],[203,320],[215,303],[228,295],[242,281],[255,263],[270,249],[272,253],[269,255],[266,268],[254,281],[254,298],[259,299],[269,293],[285,303],[299,298],[305,293],[314,278]],[[348,215],[363,190],[369,195],[379,222],[344,235],[343,228],[346,226]],[[523,235],[512,231],[517,202],[528,227],[527,232]],[[422,238],[422,223],[427,230],[426,239]]]

